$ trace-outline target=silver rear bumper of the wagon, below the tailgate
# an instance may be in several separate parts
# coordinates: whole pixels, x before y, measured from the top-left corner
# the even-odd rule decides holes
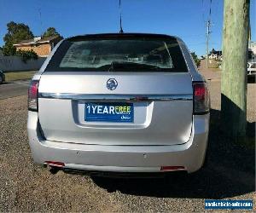
[[[209,114],[194,116],[188,142],[171,146],[102,146],[46,141],[38,127],[38,112],[28,112],[28,139],[35,163],[56,161],[66,169],[114,172],[162,172],[161,166],[199,170],[207,150]],[[180,170],[180,169],[179,169]]]

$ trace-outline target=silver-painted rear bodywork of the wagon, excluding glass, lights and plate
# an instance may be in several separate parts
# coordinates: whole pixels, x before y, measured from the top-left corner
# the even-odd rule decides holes
[[[38,112],[28,113],[32,156],[67,168],[148,172],[162,165],[193,172],[203,164],[209,114],[193,115],[192,81],[203,81],[183,41],[177,38],[189,72],[44,72]],[[106,88],[108,78],[118,87]],[[133,123],[86,122],[86,102],[132,102]]]

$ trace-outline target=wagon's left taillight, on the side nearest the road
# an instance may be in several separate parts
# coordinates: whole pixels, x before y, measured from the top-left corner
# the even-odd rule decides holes
[[[28,110],[38,111],[38,80],[32,80],[28,88]]]

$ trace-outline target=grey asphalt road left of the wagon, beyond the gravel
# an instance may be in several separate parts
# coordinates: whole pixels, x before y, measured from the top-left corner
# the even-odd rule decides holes
[[[26,95],[30,81],[15,81],[14,83],[0,84],[0,99]]]

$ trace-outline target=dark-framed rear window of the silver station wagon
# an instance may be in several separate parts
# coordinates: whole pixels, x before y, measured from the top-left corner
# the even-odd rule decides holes
[[[172,37],[96,37],[67,39],[46,71],[187,72]]]

